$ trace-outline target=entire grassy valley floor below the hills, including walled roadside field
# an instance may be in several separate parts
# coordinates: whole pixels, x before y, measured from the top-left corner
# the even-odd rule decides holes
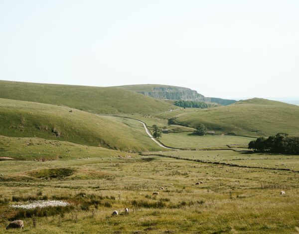
[[[214,149],[137,154],[0,136],[0,158],[14,158],[0,161],[0,233],[298,232],[299,155],[237,148],[249,139],[169,133],[160,139],[166,145]],[[70,206],[12,207],[31,200]],[[5,230],[16,219],[24,230]]]

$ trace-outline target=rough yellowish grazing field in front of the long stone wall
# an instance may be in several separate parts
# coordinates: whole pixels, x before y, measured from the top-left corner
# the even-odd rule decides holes
[[[51,177],[62,169],[71,173]],[[4,228],[16,216],[24,220],[24,232],[44,234],[295,233],[299,226],[295,172],[158,156],[0,161],[0,170],[1,233],[15,233]],[[34,227],[33,211],[9,207],[32,198],[72,206],[69,211],[48,209],[52,215],[35,217]],[[124,207],[131,209],[128,216],[111,216],[114,210],[123,214]]]

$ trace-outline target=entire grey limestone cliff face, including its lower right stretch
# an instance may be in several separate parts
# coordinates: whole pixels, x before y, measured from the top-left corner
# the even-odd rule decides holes
[[[235,100],[206,98],[203,95],[198,94],[195,90],[173,86],[154,87],[151,89],[151,91],[139,91],[138,93],[150,96],[155,99],[199,101],[205,103],[218,103],[223,106],[236,102]]]

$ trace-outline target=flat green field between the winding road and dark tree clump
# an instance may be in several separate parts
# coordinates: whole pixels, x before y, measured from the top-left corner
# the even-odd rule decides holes
[[[163,134],[159,140],[167,146],[184,149],[247,147],[251,137],[231,135],[204,135],[199,136],[192,132],[178,132]]]

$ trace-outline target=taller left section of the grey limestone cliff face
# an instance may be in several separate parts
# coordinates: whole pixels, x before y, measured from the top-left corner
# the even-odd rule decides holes
[[[182,87],[157,87],[152,88],[149,92],[139,92],[155,99],[166,100],[192,100],[201,101],[204,96],[198,94],[195,90],[190,90]]]

